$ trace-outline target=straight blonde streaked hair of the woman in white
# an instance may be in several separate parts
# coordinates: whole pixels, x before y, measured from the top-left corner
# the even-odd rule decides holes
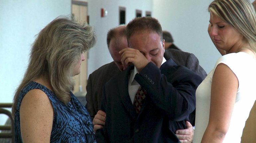
[[[208,11],[235,27],[256,51],[256,13],[249,0],[214,0]]]

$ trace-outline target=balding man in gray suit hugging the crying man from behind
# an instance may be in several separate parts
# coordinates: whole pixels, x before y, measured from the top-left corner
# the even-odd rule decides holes
[[[103,111],[98,111],[101,107],[103,86],[112,76],[123,71],[121,55],[118,52],[128,47],[125,29],[125,25],[122,25],[109,30],[107,34],[107,46],[114,61],[92,72],[88,78],[86,86],[86,108],[93,120],[95,130],[102,128],[105,120],[105,113]],[[186,66],[202,78],[205,78],[207,75],[202,67],[199,66],[198,59],[191,53],[167,49],[165,50],[164,57],[172,58],[177,65]],[[178,132],[176,132],[181,142],[185,142],[185,139],[192,142],[193,129],[189,122],[187,126],[189,127],[188,129],[178,130]]]

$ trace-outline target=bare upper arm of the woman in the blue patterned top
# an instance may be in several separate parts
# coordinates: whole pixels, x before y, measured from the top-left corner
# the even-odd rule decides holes
[[[23,143],[50,143],[53,107],[39,89],[29,91],[20,106],[20,129]]]

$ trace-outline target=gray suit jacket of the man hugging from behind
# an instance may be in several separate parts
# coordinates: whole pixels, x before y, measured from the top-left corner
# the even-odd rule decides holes
[[[204,79],[207,75],[203,68],[199,65],[199,61],[194,54],[175,49],[165,49],[164,57],[165,59],[173,59],[177,65],[187,67],[202,77],[202,79]],[[120,70],[115,63],[111,62],[103,65],[89,75],[86,85],[87,103],[85,107],[87,108],[92,120],[101,107],[101,96],[104,85],[111,77],[119,72]]]

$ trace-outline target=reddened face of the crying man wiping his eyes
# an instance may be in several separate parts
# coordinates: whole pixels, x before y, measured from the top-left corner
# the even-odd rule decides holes
[[[156,32],[136,32],[131,35],[128,42],[130,48],[139,50],[148,61],[158,68],[161,67],[165,52],[165,42],[161,40]]]

